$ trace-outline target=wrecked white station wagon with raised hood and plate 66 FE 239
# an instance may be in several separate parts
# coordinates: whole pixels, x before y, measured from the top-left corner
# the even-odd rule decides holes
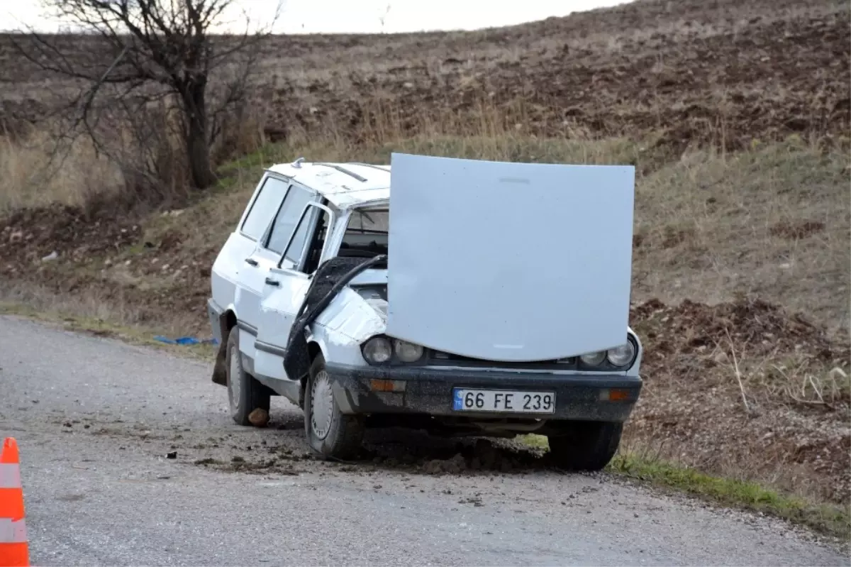
[[[643,383],[633,195],[631,166],[275,165],[212,269],[213,381],[242,425],[298,404],[329,457],[392,425],[536,432],[601,469]]]

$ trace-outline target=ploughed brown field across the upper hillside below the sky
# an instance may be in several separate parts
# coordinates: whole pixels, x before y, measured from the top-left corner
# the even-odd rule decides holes
[[[97,49],[65,39],[67,50]],[[497,122],[538,135],[664,131],[675,147],[793,133],[831,141],[851,126],[849,52],[848,3],[639,0],[468,33],[273,37],[253,108],[271,139],[411,133],[446,117],[481,124],[493,107]],[[7,124],[44,116],[74,89],[26,65],[8,37],[0,79]]]

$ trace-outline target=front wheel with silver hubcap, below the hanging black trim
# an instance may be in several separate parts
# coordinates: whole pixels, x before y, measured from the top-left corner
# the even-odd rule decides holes
[[[363,417],[340,412],[331,384],[331,377],[325,370],[325,358],[320,353],[311,364],[305,387],[307,444],[323,457],[352,459],[361,450]]]

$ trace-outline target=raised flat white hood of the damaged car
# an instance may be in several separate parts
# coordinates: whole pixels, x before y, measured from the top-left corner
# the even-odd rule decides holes
[[[625,343],[635,169],[394,153],[388,335],[472,358]]]

